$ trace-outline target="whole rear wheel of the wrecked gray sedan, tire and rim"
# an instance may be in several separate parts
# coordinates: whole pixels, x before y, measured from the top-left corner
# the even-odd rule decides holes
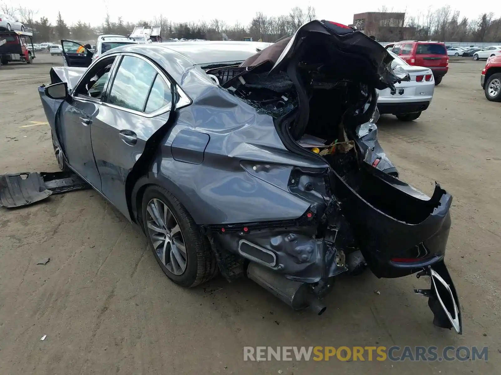
[[[143,194],[142,217],[153,255],[173,282],[192,287],[217,274],[208,239],[170,191],[148,186]]]

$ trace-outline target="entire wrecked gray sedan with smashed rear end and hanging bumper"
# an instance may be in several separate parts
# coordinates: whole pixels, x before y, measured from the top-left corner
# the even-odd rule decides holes
[[[321,314],[339,274],[417,273],[434,324],[461,333],[452,197],[401,181],[377,140],[376,89],[408,79],[392,59],[315,20],[274,44],[118,47],[39,91],[60,167],[142,227],[175,283],[248,276]]]

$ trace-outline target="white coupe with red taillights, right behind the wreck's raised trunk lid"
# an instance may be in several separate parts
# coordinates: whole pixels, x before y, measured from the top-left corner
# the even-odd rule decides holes
[[[388,51],[394,64],[400,65],[410,75],[410,81],[395,83],[395,92],[389,88],[378,90],[377,107],[379,113],[394,114],[401,121],[412,121],[428,108],[433,98],[435,81],[431,69],[409,65],[395,53]]]

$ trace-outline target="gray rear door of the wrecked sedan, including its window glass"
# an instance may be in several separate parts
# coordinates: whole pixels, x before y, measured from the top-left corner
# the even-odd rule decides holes
[[[93,122],[92,148],[102,192],[128,218],[127,176],[146,141],[166,124],[172,87],[168,77],[147,58],[123,53]]]

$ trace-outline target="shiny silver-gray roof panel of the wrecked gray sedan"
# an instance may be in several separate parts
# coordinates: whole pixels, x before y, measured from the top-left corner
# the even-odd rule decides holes
[[[243,61],[258,49],[272,43],[259,41],[178,41],[147,44],[125,44],[103,53],[138,53],[150,58],[164,68],[176,82],[182,85],[184,72],[194,65],[210,65],[220,62]]]

